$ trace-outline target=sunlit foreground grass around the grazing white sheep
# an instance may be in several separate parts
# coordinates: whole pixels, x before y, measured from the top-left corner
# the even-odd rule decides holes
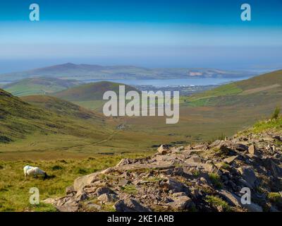
[[[152,153],[147,153],[150,155]],[[144,157],[144,154],[90,155],[83,159],[59,160],[0,160],[0,212],[1,211],[55,211],[54,207],[44,203],[29,203],[30,188],[39,189],[40,201],[45,198],[59,197],[65,194],[66,186],[73,184],[75,178],[116,165],[123,157]],[[48,172],[49,179],[28,177],[24,179],[23,166],[34,165]]]

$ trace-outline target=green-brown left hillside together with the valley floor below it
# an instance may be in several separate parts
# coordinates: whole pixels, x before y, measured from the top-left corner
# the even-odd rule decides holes
[[[104,118],[56,97],[33,95],[23,100],[1,90],[0,160],[133,153],[173,141],[163,134],[117,129],[123,119]]]

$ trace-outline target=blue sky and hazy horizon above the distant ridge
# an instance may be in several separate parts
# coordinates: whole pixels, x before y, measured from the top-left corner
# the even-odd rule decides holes
[[[30,22],[29,5],[40,6]],[[252,21],[240,20],[240,6]],[[282,0],[0,2],[0,73],[67,61],[149,67],[282,67]]]

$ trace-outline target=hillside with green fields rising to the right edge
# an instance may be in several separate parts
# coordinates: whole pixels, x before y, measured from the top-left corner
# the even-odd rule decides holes
[[[264,101],[280,101],[282,71],[266,73],[243,81],[221,85],[219,88],[185,98],[190,106],[256,105]]]

